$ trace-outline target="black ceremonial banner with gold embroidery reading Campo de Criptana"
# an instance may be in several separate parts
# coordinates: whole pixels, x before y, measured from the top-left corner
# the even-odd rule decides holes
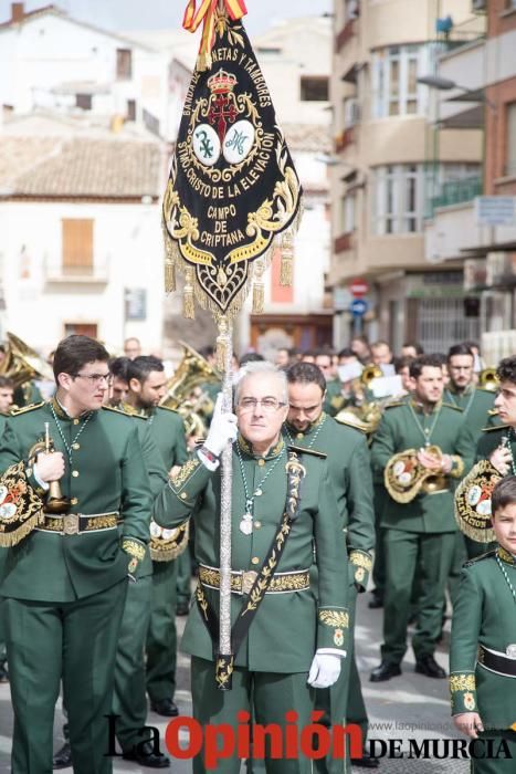
[[[167,290],[175,289],[175,269],[185,271],[185,315],[193,316],[196,295],[219,326],[242,307],[252,280],[253,311],[262,311],[262,275],[282,232],[282,283],[291,284],[302,203],[268,88],[240,19],[229,15],[235,4],[225,0],[210,23],[204,19],[202,44],[207,28],[214,35],[211,70],[200,69],[210,59],[203,50],[164,199]],[[192,13],[190,3],[188,29]]]

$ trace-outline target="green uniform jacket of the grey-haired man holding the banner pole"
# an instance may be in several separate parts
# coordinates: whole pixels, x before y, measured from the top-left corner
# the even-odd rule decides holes
[[[232,569],[259,571],[273,542],[286,500],[286,448],[283,439],[266,458],[255,458],[248,443],[233,444],[232,488]],[[337,503],[327,478],[327,463],[320,454],[301,452],[306,468],[301,484],[299,515],[292,526],[276,572],[308,571],[314,562],[314,541],[318,562],[318,605],[314,590],[265,594],[236,657],[236,666],[261,672],[306,672],[316,648],[343,652],[347,647],[347,561],[335,513]],[[240,522],[246,511],[241,464],[250,492],[263,487],[254,501],[254,527],[244,535]],[[267,475],[268,474],[268,475]],[[266,481],[263,481],[267,475]],[[262,483],[263,481],[263,483]],[[196,525],[196,558],[201,565],[219,567],[220,557],[220,468],[210,472],[199,460],[189,460],[155,502],[154,517],[162,526],[177,526],[190,514]],[[219,609],[219,592],[206,588],[206,595]],[[232,620],[246,597],[232,594]],[[317,609],[318,608],[318,609]],[[203,659],[213,659],[208,630],[196,605],[189,615],[182,648]]]

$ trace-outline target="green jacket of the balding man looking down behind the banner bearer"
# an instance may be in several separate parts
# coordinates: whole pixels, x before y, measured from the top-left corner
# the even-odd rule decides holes
[[[367,588],[375,546],[372,480],[366,436],[326,414],[305,431],[285,426],[287,442],[328,454],[329,481],[347,532],[349,571],[359,592]]]

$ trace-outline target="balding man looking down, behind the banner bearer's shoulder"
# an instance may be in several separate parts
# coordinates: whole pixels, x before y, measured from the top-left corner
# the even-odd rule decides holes
[[[338,527],[345,535],[349,565],[349,647],[352,652],[348,652],[338,681],[328,690],[317,691],[316,702],[317,707],[329,711],[331,724],[346,725],[347,722],[355,722],[354,711],[361,718],[365,717],[365,739],[367,713],[355,665],[352,635],[357,593],[366,590],[375,544],[369,449],[362,432],[336,421],[323,411],[326,380],[317,366],[297,363],[286,372],[286,378],[288,416],[284,436],[288,443],[327,454],[329,481],[338,503]],[[360,762],[365,761],[362,759]],[[345,766],[346,761],[336,760],[331,755],[314,763],[315,771],[331,774],[345,772]]]

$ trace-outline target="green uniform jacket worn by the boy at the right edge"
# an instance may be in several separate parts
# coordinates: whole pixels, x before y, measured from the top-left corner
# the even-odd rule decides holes
[[[515,599],[497,562],[516,588],[516,557],[504,548],[466,562],[453,608],[450,650],[452,714],[478,712],[485,729],[516,720],[516,679],[477,662],[478,646],[505,655],[516,648]]]

